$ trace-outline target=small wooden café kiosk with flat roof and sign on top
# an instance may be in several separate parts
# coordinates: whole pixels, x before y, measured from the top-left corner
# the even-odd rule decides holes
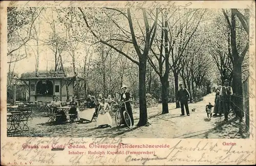
[[[30,101],[53,101],[58,97],[61,101],[67,100],[67,87],[69,96],[73,96],[77,75],[66,76],[63,71],[37,72],[36,77],[20,78],[28,82]]]

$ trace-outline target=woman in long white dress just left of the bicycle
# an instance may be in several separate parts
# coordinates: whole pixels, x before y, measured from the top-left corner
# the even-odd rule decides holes
[[[110,105],[105,102],[105,99],[102,99],[102,103],[99,105],[99,114],[97,119],[97,126],[98,127],[111,127],[112,126],[112,118],[109,114]]]

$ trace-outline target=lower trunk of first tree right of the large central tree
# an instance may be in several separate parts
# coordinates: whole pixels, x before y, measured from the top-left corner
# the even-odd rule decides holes
[[[162,114],[168,114],[168,77],[161,78]]]

